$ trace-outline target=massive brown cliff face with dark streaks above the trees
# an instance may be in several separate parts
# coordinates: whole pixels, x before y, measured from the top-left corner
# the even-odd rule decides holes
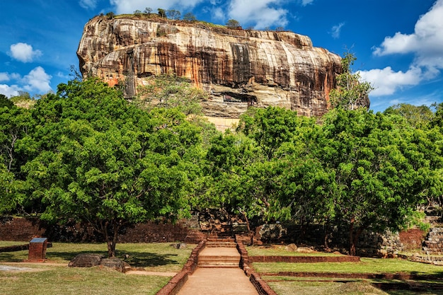
[[[80,69],[126,96],[150,75],[175,72],[210,93],[209,117],[238,118],[248,106],[281,106],[323,115],[340,74],[340,57],[289,32],[235,30],[165,19],[98,16],[84,27]]]

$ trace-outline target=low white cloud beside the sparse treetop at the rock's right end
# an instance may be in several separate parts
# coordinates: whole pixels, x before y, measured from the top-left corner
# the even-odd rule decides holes
[[[391,66],[384,69],[371,69],[358,72],[363,81],[372,84],[374,96],[389,96],[405,86],[415,86],[423,79],[422,70],[419,67],[411,67],[408,71],[393,71]]]

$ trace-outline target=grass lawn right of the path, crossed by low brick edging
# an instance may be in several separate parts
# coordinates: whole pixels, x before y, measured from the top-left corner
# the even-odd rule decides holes
[[[400,259],[378,259],[362,258],[362,262],[334,262],[334,263],[286,263],[286,262],[255,262],[254,269],[259,273],[277,272],[335,272],[335,273],[362,273],[362,274],[384,274],[384,273],[408,273],[408,274],[431,274],[443,279],[443,267],[427,265],[419,262],[410,262]],[[377,279],[333,279],[333,278],[299,278],[299,277],[277,277],[262,276],[279,295],[301,294],[301,295],[331,295],[331,294],[391,294],[391,295],[443,295],[443,282],[437,281],[398,281]],[[336,282],[333,282],[336,281]],[[385,284],[410,284],[425,285],[427,291],[411,291],[405,289],[382,291],[372,283]],[[437,289],[432,289],[432,287]]]

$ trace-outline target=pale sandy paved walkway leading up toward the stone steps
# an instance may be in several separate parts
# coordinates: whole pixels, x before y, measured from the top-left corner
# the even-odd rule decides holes
[[[205,248],[201,256],[235,256],[240,260],[236,248]],[[240,267],[197,267],[188,277],[178,295],[258,295],[249,278]]]

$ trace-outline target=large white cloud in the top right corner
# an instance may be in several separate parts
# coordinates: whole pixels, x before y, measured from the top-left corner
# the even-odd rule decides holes
[[[415,66],[427,68],[431,76],[443,69],[443,0],[435,1],[430,11],[420,16],[414,33],[398,32],[374,48],[378,56],[406,53],[415,54]]]

